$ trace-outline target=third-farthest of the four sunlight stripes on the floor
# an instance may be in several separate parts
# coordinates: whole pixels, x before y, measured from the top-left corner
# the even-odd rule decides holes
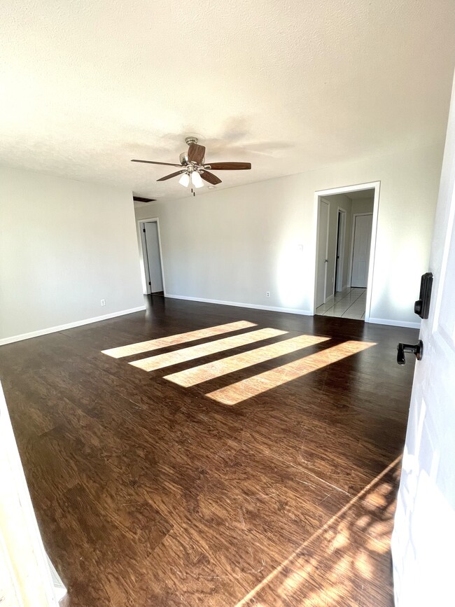
[[[249,350],[248,352],[244,352],[244,354],[234,354],[234,356],[222,358],[221,361],[214,361],[213,363],[206,363],[199,367],[172,373],[172,375],[166,375],[165,379],[169,379],[169,382],[174,382],[174,384],[179,384],[179,386],[188,388],[189,386],[195,386],[202,382],[208,382],[209,379],[221,377],[227,373],[251,367],[251,365],[264,363],[277,356],[290,354],[291,352],[325,342],[329,339],[330,337],[298,335],[297,337],[292,337],[290,340],[283,340],[282,342],[276,342],[275,344]]]

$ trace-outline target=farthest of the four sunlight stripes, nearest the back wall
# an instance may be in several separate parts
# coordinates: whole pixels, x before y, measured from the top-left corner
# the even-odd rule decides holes
[[[146,342],[138,342],[137,344],[102,350],[102,353],[112,356],[113,358],[122,358],[122,356],[142,354],[142,352],[158,350],[160,348],[176,346],[177,344],[184,344],[187,342],[195,342],[196,340],[203,340],[205,337],[214,337],[214,335],[222,335],[223,333],[230,333],[230,331],[238,331],[240,329],[247,329],[255,326],[257,326],[255,323],[250,323],[248,321],[237,321],[235,323],[218,325],[216,327],[208,327],[207,329],[198,329],[196,331],[190,331],[189,333],[167,335],[166,337],[159,337],[156,340],[148,340]]]

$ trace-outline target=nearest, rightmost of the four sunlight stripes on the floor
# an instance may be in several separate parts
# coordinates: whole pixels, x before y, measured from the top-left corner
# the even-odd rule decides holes
[[[242,379],[241,382],[236,382],[230,386],[225,386],[219,390],[208,393],[206,396],[217,400],[223,405],[237,405],[242,400],[257,396],[262,392],[267,392],[276,386],[281,386],[293,379],[298,379],[307,373],[316,371],[337,361],[342,361],[346,356],[352,356],[367,348],[375,346],[374,342],[343,342],[337,346],[327,348],[315,354],[310,354],[304,358],[299,358],[297,361],[281,365],[269,371]]]

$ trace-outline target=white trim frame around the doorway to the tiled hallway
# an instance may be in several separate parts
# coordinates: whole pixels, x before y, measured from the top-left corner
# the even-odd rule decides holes
[[[376,233],[377,233],[377,217],[379,214],[379,189],[381,186],[380,181],[371,181],[370,183],[358,183],[354,186],[342,186],[341,188],[330,188],[329,190],[318,190],[314,193],[314,281],[313,281],[313,307],[310,310],[311,314],[314,315],[316,310],[316,260],[318,251],[318,204],[319,198],[324,196],[330,196],[332,194],[347,194],[349,192],[358,192],[359,190],[373,190],[374,189],[374,203],[373,203],[373,223],[371,230],[371,246],[370,246],[370,265],[368,266],[368,285],[367,285],[367,302],[365,308],[365,322],[370,320],[371,313],[371,293],[374,276],[374,255],[376,253]]]

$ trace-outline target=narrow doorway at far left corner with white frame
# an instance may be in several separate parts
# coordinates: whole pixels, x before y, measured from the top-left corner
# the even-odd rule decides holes
[[[141,235],[144,293],[165,296],[165,280],[162,271],[160,225],[158,219],[139,221]]]

